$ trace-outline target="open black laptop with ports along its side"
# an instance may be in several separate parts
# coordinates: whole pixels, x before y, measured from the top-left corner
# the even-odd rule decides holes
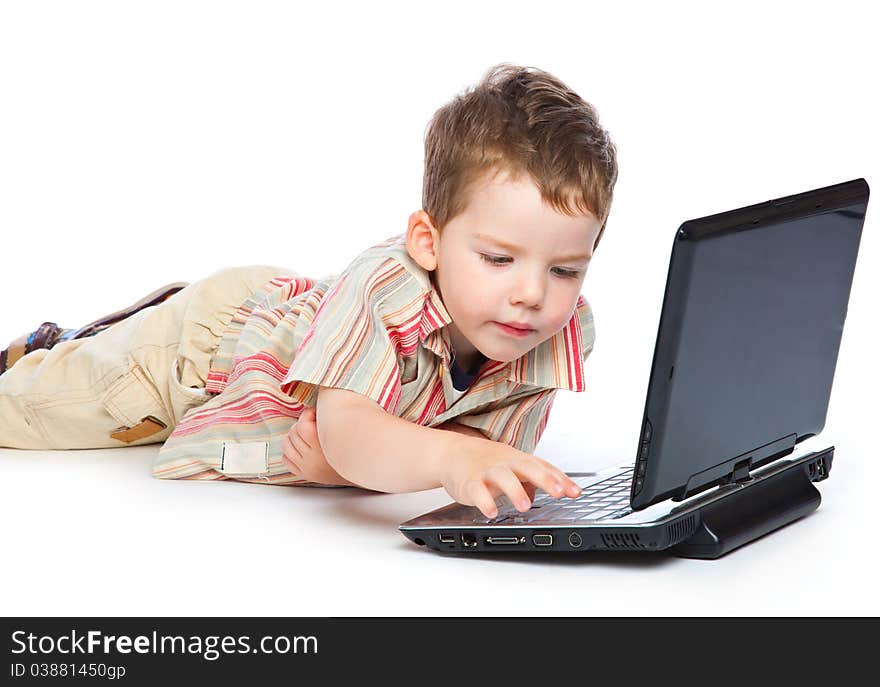
[[[452,503],[400,531],[440,552],[661,551],[717,558],[815,510],[868,205],[864,179],[675,232],[634,456],[568,473],[582,493],[486,518]]]

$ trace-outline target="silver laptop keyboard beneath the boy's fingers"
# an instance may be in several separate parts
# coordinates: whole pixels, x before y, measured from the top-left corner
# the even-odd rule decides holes
[[[528,524],[533,520],[562,520],[577,522],[580,520],[615,520],[629,515],[629,493],[632,484],[633,468],[621,470],[617,474],[585,486],[593,477],[574,478],[572,481],[581,487],[581,495],[577,498],[553,498],[544,491],[535,494],[532,507],[525,513],[509,506],[500,510],[494,520],[484,522],[506,522],[508,524]]]

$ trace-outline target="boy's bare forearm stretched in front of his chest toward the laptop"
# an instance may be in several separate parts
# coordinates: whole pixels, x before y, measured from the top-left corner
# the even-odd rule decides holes
[[[470,427],[447,423],[423,427],[379,408],[350,404],[318,411],[318,438],[327,462],[345,479],[366,489],[411,492],[441,486],[443,466],[468,437]],[[453,431],[447,431],[453,430]]]

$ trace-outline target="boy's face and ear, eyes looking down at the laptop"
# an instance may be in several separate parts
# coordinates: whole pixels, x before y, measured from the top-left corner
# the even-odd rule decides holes
[[[414,212],[407,249],[436,270],[456,363],[468,369],[478,352],[510,362],[561,330],[574,314],[600,226],[592,214],[556,212],[528,176],[513,181],[503,172],[477,182],[442,236],[427,213]],[[529,329],[500,326],[507,323]]]

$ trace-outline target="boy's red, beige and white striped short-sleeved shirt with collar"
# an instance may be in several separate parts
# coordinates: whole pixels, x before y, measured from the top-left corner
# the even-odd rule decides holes
[[[223,332],[211,395],[181,418],[153,475],[308,485],[283,463],[282,440],[320,386],[357,392],[426,427],[454,420],[532,453],[557,390],[585,389],[595,340],[588,302],[579,296],[565,327],[521,358],[483,360],[464,393],[450,374],[451,321],[405,234],[368,248],[340,275],[272,279]]]

